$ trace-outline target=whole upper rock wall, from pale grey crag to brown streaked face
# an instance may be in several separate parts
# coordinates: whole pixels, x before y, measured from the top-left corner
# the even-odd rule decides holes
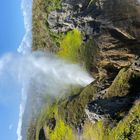
[[[139,56],[140,3],[137,0],[63,0],[49,13],[52,32],[77,28],[99,49],[94,65],[101,75],[130,65]],[[95,50],[95,48],[93,48]],[[92,50],[92,51],[94,51]],[[92,66],[93,67],[93,66]]]

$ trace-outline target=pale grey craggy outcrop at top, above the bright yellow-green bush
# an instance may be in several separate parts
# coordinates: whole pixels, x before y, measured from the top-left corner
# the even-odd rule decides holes
[[[93,16],[93,10],[99,9],[99,5],[91,6],[90,0],[70,1],[63,0],[62,8],[49,13],[48,23],[52,32],[67,32],[78,28],[86,35],[99,33],[100,22]]]

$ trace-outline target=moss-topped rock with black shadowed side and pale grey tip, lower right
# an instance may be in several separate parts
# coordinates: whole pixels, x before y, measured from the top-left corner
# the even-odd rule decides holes
[[[100,89],[98,85],[98,96],[95,96],[85,109],[89,120],[95,123],[117,119],[117,113],[127,114],[134,102],[140,98],[139,82],[138,59],[129,68],[122,69],[108,88]]]

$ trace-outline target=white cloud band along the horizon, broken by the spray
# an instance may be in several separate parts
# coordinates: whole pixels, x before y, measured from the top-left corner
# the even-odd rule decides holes
[[[22,54],[26,54],[31,51],[31,46],[32,46],[32,0],[22,0],[21,9],[23,11],[24,26],[25,26],[26,33],[18,48],[18,52]],[[22,94],[24,94],[23,91],[22,91]],[[20,105],[19,123],[18,123],[18,128],[17,128],[18,140],[22,140],[21,127],[22,127],[22,116],[23,116],[24,108],[25,108],[24,104],[25,104],[25,101],[22,101]]]

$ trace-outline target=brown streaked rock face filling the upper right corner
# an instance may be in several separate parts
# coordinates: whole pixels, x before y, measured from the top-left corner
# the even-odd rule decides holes
[[[106,0],[102,10],[99,18],[107,24],[96,37],[100,50],[97,66],[103,73],[111,73],[111,69],[129,66],[139,56],[140,4],[136,0]]]

